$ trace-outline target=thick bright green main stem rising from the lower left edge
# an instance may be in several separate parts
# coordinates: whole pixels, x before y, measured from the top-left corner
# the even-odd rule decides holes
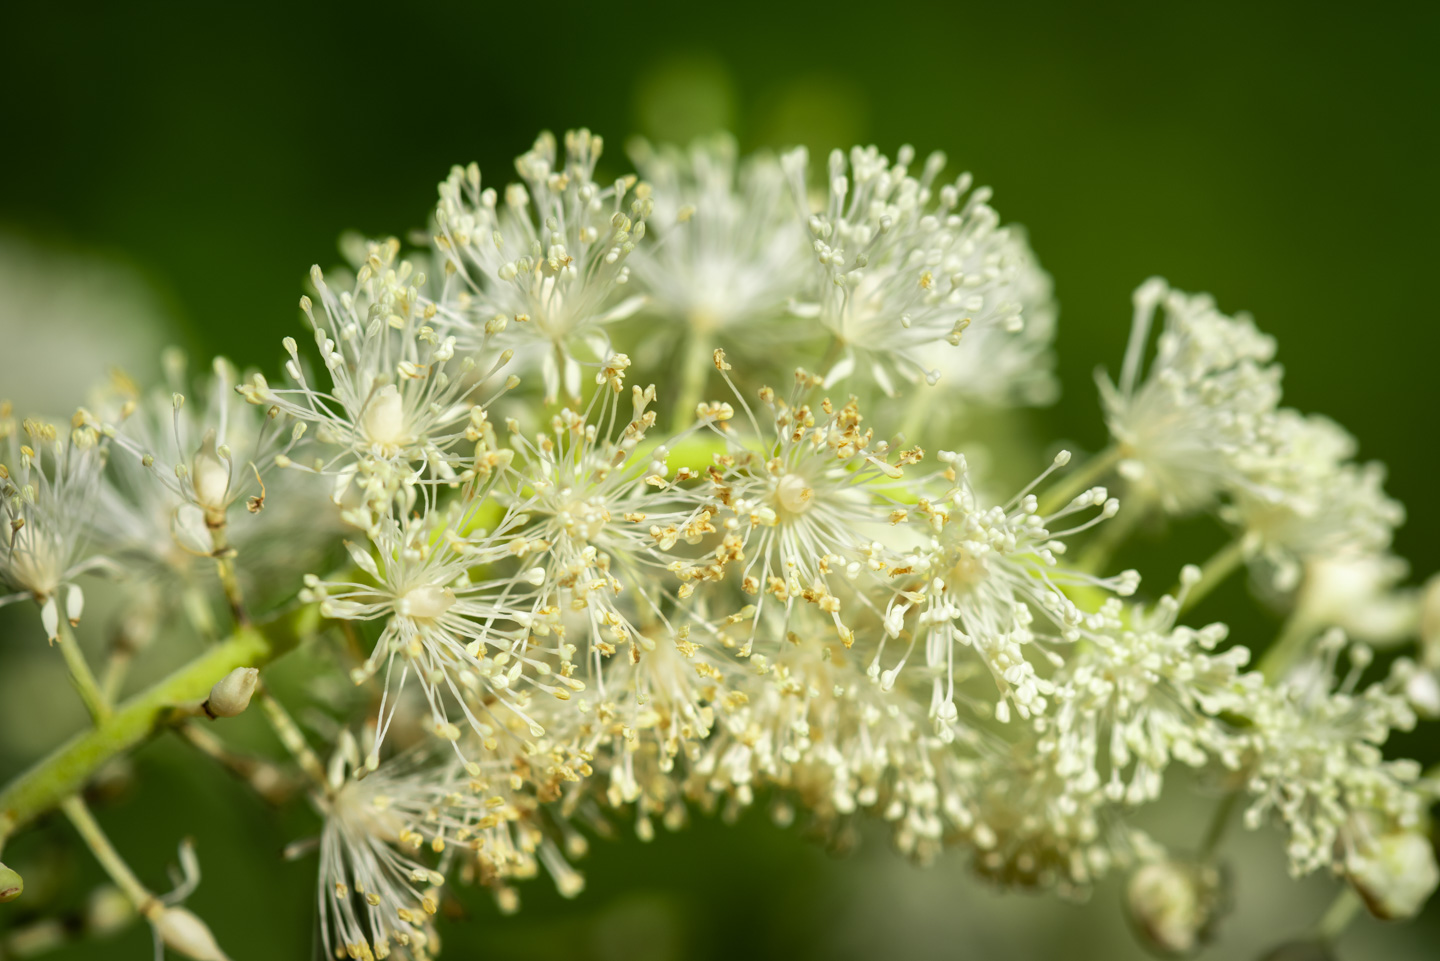
[[[295,647],[312,627],[314,609],[302,608],[264,631],[242,627],[193,661],[135,694],[91,730],[55,749],[0,792],[0,839],[29,824],[66,797],[79,792],[95,771],[140,745],[174,715],[174,706],[200,700],[236,667],[262,667]],[[310,622],[304,622],[304,621]]]

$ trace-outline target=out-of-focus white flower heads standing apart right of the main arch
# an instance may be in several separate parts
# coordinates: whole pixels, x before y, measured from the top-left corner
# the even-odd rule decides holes
[[[1152,278],[1135,292],[1120,379],[1102,377],[1100,393],[1136,493],[1171,514],[1218,510],[1274,586],[1292,591],[1310,563],[1385,552],[1404,509],[1385,496],[1380,464],[1354,462],[1344,428],[1280,406],[1274,353],[1248,317]]]

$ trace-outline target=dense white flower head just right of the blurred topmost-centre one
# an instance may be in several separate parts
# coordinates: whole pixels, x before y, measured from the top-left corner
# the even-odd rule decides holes
[[[808,216],[815,252],[815,316],[842,347],[834,382],[852,370],[874,379],[890,395],[903,382],[940,372],[929,352],[962,346],[962,334],[991,326],[1020,330],[1015,277],[1024,258],[989,190],[971,192],[969,174],[935,187],[945,154],[933,153],[910,174],[912,147],[891,166],[874,147],[829,156],[828,196]],[[811,210],[804,148],[785,154],[796,203]]]

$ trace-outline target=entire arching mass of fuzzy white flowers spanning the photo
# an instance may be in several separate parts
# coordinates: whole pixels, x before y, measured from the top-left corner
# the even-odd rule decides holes
[[[1189,945],[1217,898],[1187,885],[1218,875],[1162,867],[1130,817],[1176,762],[1283,823],[1297,873],[1400,903],[1384,866],[1424,860],[1407,839],[1434,784],[1382,745],[1436,658],[1374,680],[1356,644],[1335,679],[1345,631],[1418,624],[1385,553],[1401,514],[1344,431],[1280,406],[1270,337],[1148,281],[1102,382],[1113,452],[1051,454],[996,494],[1044,460],[992,470],[927,411],[1054,395],[1050,281],[988,190],[909,147],[835,151],[812,184],[804,150],[638,143],[641,176],[602,182],[599,137],[563,144],[543,134],[503,192],[456,167],[426,249],[315,268],[314,350],[285,340],[284,383],[217,363],[187,403],[171,362],[164,395],[112,388],[69,432],[0,415],[0,575],[52,634],[86,568],[168,602],[212,584],[194,558],[238,618],[239,581],[291,572],[341,628],[376,697],[312,785],[328,951],[432,957],[448,879],[513,908],[544,867],[573,895],[577,826],[644,837],[760,792],[837,840],[873,815],[914,857],[960,846],[1009,885],[1148,866],[1132,911],[1169,913],[1139,926]],[[1214,511],[1300,588],[1279,660],[1247,670],[1263,638],[1182,622],[1208,565],[1125,599],[1122,497]],[[338,568],[294,571],[340,542]]]

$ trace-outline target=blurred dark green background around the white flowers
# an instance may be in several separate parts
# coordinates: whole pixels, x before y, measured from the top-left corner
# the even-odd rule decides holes
[[[1044,437],[1103,442],[1092,370],[1117,365],[1139,281],[1210,290],[1279,337],[1290,405],[1328,412],[1390,464],[1410,510],[1397,550],[1417,578],[1440,569],[1436,4],[27,3],[0,23],[0,238],[124,265],[197,356],[275,370],[305,271],[338,259],[343,229],[422,226],[452,163],[508,177],[541,127],[605,134],[613,169],[634,133],[727,127],[747,148],[812,153],[913,143],[992,184],[1056,278],[1066,393],[1038,415]],[[24,349],[37,323],[39,308],[0,317],[0,393],[20,367],[59,379],[72,363],[69,349]],[[134,334],[147,350],[148,337]],[[1182,559],[1165,550],[1162,571]],[[1241,599],[1230,585],[1202,614],[1266,630]],[[0,622],[0,671],[43,673],[59,658],[22,650],[19,617]],[[7,690],[0,725],[23,736],[0,749],[0,777],[59,736]],[[1433,735],[1404,746],[1437,754]],[[137,869],[161,886],[193,834],[209,873],[190,903],[236,961],[308,958],[314,862],[278,854],[314,818],[278,823],[177,745],[135,765],[101,820]],[[1205,817],[1181,807],[1169,827],[1195,834]],[[68,831],[52,821],[7,862],[84,890],[98,872],[82,852],[55,854]],[[1289,886],[1277,839],[1263,840],[1231,837],[1257,860],[1207,957],[1253,957],[1328,899],[1325,880]],[[533,883],[507,919],[469,898],[475,924],[446,928],[446,957],[1139,957],[1113,886],[1086,908],[1001,898],[958,860],[922,872],[878,837],[829,859],[763,810],[733,830],[698,818],[648,846],[598,843],[582,867],[575,902]],[[24,921],[14,908],[0,931]],[[1344,957],[1428,958],[1434,944],[1431,909],[1410,928],[1359,922]],[[53,957],[148,949],[137,926]]]

